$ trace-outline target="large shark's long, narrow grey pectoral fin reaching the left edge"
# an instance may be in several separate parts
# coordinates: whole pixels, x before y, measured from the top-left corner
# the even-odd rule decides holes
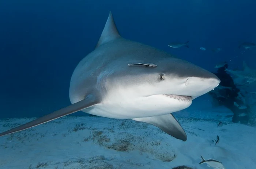
[[[65,107],[65,108],[62,108],[60,110],[54,111],[51,114],[45,115],[41,118],[35,119],[35,120],[33,120],[29,123],[23,124],[21,126],[12,128],[11,130],[2,132],[2,133],[0,133],[0,137],[4,136],[4,135],[7,135],[7,134],[14,133],[14,132],[26,130],[26,129],[31,128],[31,127],[38,126],[40,124],[43,124],[43,123],[52,121],[54,119],[58,119],[58,118],[61,118],[63,116],[66,116],[66,115],[75,113],[77,111],[83,110],[85,108],[91,107],[91,106],[93,106],[95,104],[98,104],[98,103],[99,103],[99,101],[97,101],[96,99],[94,99],[92,97],[90,97],[90,98],[86,97],[86,99],[81,100],[77,103],[71,104],[68,107]]]

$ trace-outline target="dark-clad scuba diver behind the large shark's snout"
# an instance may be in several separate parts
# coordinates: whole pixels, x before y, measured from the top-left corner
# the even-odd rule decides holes
[[[232,77],[227,74],[226,68],[228,68],[227,64],[220,67],[217,73],[214,73],[221,82],[209,94],[218,101],[219,105],[223,105],[233,112],[232,122],[248,124],[247,114],[251,109],[248,105],[245,105],[244,96],[234,84]]]

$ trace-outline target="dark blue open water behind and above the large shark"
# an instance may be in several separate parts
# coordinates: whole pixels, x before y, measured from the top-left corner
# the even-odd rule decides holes
[[[256,67],[255,50],[238,49],[256,42],[255,9],[253,0],[1,0],[0,118],[42,116],[69,105],[73,70],[94,49],[110,10],[123,37],[214,70],[219,61]],[[189,49],[167,46],[188,40]]]

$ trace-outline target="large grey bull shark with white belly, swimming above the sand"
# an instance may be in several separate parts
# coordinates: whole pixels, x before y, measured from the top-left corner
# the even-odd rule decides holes
[[[189,107],[193,99],[219,83],[217,76],[199,66],[121,37],[110,11],[95,49],[79,62],[72,74],[71,105],[0,136],[83,111],[149,123],[186,141],[185,131],[171,113]]]

